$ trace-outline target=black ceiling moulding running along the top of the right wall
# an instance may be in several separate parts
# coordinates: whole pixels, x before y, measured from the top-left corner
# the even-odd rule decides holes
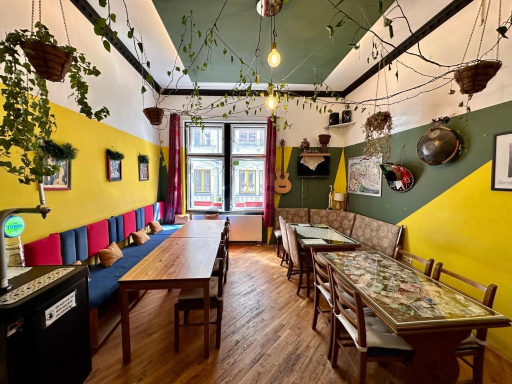
[[[451,17],[453,17],[455,14],[457,14],[460,10],[465,8],[473,1],[474,0],[454,0],[453,2],[451,2],[449,5],[444,7],[440,12],[438,12],[434,17],[432,17],[428,22],[426,22],[421,28],[414,32],[414,36],[409,36],[399,46],[397,46],[396,49],[392,50],[387,56],[385,56],[383,59],[383,63],[380,64],[380,67],[386,67],[389,63],[396,60],[404,52],[414,47],[417,41],[428,36],[431,32],[436,30],[438,27],[440,27],[447,20],[449,20]],[[377,62],[372,68],[370,68],[368,71],[362,74],[357,80],[352,82],[350,86],[345,88],[343,91],[340,91],[339,94],[347,96],[352,91],[355,91],[359,86],[364,84],[367,80],[369,80],[378,71],[379,63]]]

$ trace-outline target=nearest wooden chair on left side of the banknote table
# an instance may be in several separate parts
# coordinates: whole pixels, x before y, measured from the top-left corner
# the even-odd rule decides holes
[[[336,366],[338,351],[343,347],[350,365],[358,372],[359,384],[364,384],[368,362],[407,361],[412,356],[412,347],[373,312],[365,309],[361,295],[345,284],[331,266],[328,266],[328,273],[334,304],[331,365]],[[354,304],[344,293],[354,298]],[[357,367],[345,351],[347,347],[357,348]]]

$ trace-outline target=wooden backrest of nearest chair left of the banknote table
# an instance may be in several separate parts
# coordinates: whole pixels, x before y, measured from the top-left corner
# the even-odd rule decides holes
[[[358,346],[360,348],[366,348],[365,312],[362,306],[361,295],[345,284],[330,265],[327,267],[327,270],[331,286],[334,313],[336,315],[342,315],[347,319],[347,322],[357,331]],[[353,297],[354,302],[352,303],[346,295]],[[352,335],[352,337],[354,336]]]

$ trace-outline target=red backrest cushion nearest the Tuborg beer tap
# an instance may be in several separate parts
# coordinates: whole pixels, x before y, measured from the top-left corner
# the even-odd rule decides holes
[[[28,267],[34,265],[62,265],[60,255],[60,236],[52,233],[44,239],[25,244],[25,263]]]

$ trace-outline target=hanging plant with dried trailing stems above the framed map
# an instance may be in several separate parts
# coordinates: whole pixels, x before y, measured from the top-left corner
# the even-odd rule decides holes
[[[365,134],[365,156],[374,157],[382,153],[383,161],[389,158],[391,153],[391,131],[393,130],[393,118],[389,111],[376,112],[366,119],[362,126]]]

